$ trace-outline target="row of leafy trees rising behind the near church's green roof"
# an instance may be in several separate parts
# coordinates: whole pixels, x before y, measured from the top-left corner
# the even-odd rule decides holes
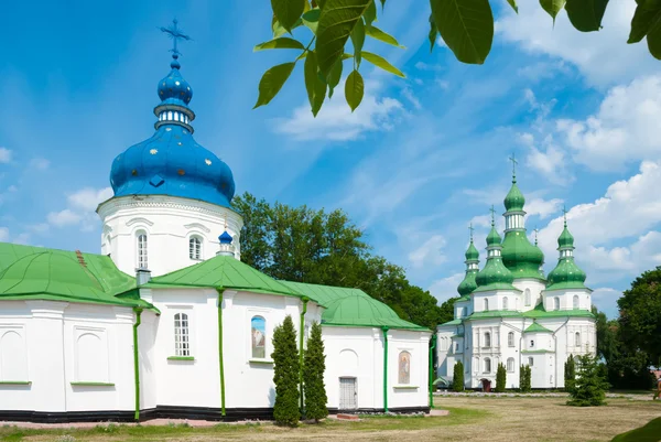
[[[243,216],[241,260],[247,265],[275,279],[361,289],[403,320],[432,330],[446,322],[436,299],[411,284],[404,269],[371,255],[344,212],[271,205],[249,193],[232,205]]]

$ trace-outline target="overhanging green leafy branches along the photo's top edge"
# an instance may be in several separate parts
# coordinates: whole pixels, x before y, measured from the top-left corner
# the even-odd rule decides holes
[[[631,0],[629,0],[631,1]],[[382,11],[386,0],[380,0]],[[650,53],[661,60],[661,1],[636,0],[628,43],[647,37]],[[508,3],[518,12],[516,0]],[[424,8],[424,1],[412,8]],[[494,41],[494,13],[488,0],[430,0],[429,26],[431,50],[438,35],[456,58],[463,63],[483,64]],[[582,32],[598,31],[608,0],[540,0],[553,22],[561,10],[566,10],[572,25]],[[365,83],[360,64],[368,62],[383,71],[404,77],[386,58],[362,50],[366,37],[395,47],[403,47],[397,39],[375,25],[378,15],[376,0],[271,0],[273,40],[258,44],[254,51],[293,50],[292,61],[268,69],[259,82],[259,97],[254,107],[268,105],[280,91],[296,64],[303,65],[303,78],[310,107],[314,116],[326,97],[330,99],[339,86],[345,63],[351,69],[346,76],[345,97],[351,110],[361,103]],[[415,24],[413,24],[415,25]],[[550,24],[551,25],[551,24]],[[305,30],[299,32],[301,30]],[[294,39],[294,31],[297,39]],[[284,36],[285,34],[288,34]],[[345,52],[351,41],[353,54]],[[300,63],[299,63],[300,62]]]

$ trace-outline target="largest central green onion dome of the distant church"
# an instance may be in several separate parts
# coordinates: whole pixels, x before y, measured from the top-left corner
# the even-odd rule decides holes
[[[530,244],[523,229],[505,234],[502,262],[517,279],[544,279],[540,271],[540,267],[544,263],[544,254],[539,247]]]

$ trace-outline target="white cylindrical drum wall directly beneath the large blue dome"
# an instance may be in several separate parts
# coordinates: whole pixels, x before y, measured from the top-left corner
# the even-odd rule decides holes
[[[178,270],[216,256],[218,236],[234,237],[240,259],[241,216],[214,204],[174,196],[118,197],[99,205],[102,223],[101,250],[110,255],[119,270],[134,274],[138,262],[138,235],[147,235],[148,269],[152,276]],[[202,239],[201,259],[189,256],[189,239]]]

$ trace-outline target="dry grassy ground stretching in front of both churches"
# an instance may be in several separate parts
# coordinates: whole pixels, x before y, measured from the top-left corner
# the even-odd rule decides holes
[[[436,398],[446,417],[367,418],[283,429],[269,423],[110,425],[28,430],[0,427],[2,441],[610,441],[661,413],[661,403],[610,399],[607,407],[574,408],[563,398]]]

